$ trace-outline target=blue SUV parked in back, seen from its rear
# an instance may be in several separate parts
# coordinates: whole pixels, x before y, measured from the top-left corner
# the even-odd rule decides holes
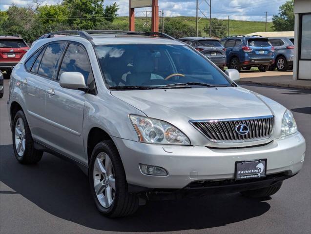
[[[274,48],[268,38],[260,36],[231,36],[220,42],[227,49],[228,68],[238,71],[258,67],[265,72],[274,63]]]

